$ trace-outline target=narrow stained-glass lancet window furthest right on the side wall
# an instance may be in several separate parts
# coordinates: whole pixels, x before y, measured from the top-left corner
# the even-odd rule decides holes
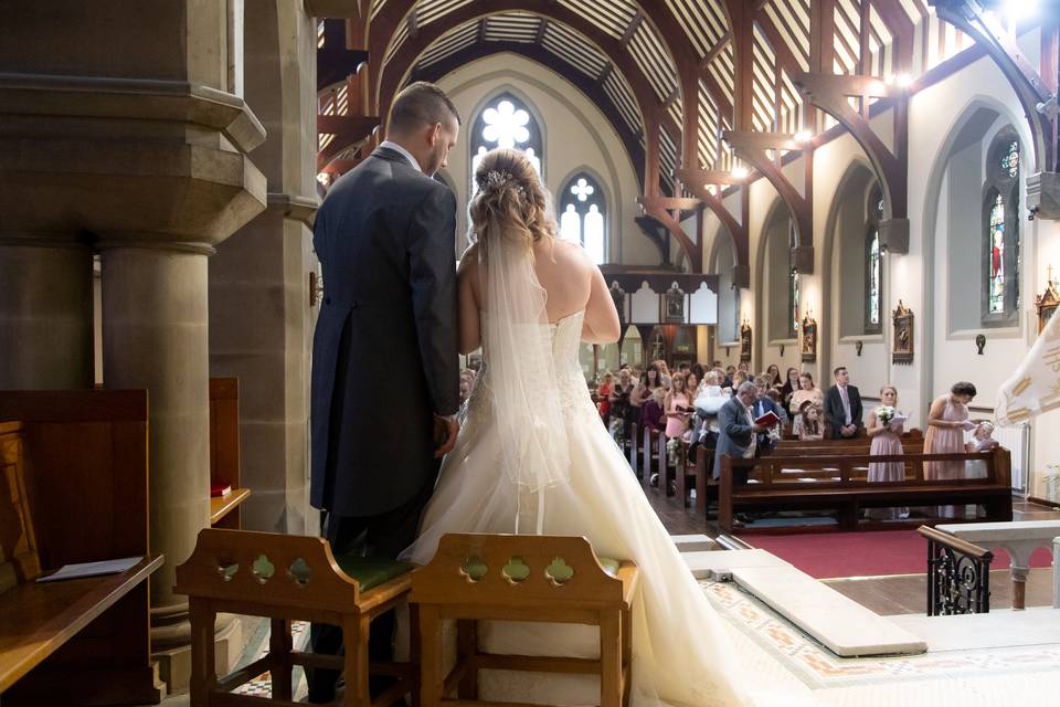
[[[983,197],[983,323],[1016,324],[1019,309],[1019,140],[998,134],[987,150]]]

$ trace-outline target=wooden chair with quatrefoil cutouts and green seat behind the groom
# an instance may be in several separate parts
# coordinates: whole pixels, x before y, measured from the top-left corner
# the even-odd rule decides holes
[[[265,705],[261,697],[232,690],[266,671],[272,700],[293,705],[295,665],[344,671],[346,690],[335,705],[381,707],[416,693],[417,632],[411,626],[413,661],[372,663],[373,674],[398,680],[375,699],[369,697],[368,639],[372,620],[405,603],[412,589],[412,566],[389,560],[339,558],[321,538],[208,528],[195,550],[177,568],[176,591],[188,594],[192,636],[192,707]],[[272,620],[269,652],[242,671],[219,678],[214,672],[213,626],[219,612]],[[342,629],[344,656],[293,651],[292,620],[329,623]]]

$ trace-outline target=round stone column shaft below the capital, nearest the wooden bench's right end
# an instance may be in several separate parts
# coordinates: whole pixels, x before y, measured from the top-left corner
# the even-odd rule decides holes
[[[206,256],[213,249],[102,243],[103,379],[147,388],[151,551],[187,558],[210,525]],[[151,576],[151,603],[174,597],[174,562]]]

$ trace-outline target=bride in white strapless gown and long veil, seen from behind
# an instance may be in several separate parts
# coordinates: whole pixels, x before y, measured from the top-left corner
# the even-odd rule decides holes
[[[425,564],[447,532],[581,535],[640,569],[633,606],[632,704],[740,705],[727,629],[600,422],[579,345],[610,344],[618,316],[580,245],[555,236],[549,200],[521,152],[494,150],[475,173],[471,246],[460,260],[459,347],[484,368],[445,457],[420,537]],[[591,657],[590,626],[483,623],[487,650]],[[597,704],[585,676],[484,673],[484,699]]]

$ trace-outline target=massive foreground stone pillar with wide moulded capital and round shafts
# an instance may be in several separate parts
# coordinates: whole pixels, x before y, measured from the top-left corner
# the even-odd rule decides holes
[[[104,383],[148,390],[150,545],[166,553],[151,578],[152,642],[179,652],[181,666],[190,665],[190,633],[186,603],[171,591],[173,567],[209,525],[208,253],[261,212],[267,194],[247,158],[265,130],[239,95],[242,8],[7,3],[0,42],[0,236],[84,233],[102,250]],[[18,270],[8,247],[0,245],[0,291]],[[54,293],[70,279],[63,267],[50,262]],[[77,310],[91,312],[91,279],[83,289]],[[23,297],[33,285],[12,292]],[[63,320],[45,299],[53,308],[33,312],[43,324],[18,324],[24,305],[3,297],[0,327]],[[64,297],[63,310],[74,309],[73,294]],[[38,358],[62,347],[39,348]],[[91,360],[76,350],[75,359]],[[161,673],[171,690],[187,686],[183,667],[178,674],[163,662]]]

